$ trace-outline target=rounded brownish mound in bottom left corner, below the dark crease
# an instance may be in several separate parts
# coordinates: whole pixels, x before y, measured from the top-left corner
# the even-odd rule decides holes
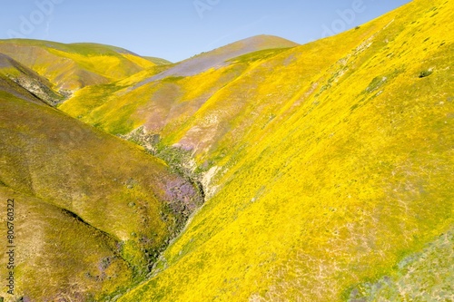
[[[120,257],[114,239],[44,200],[4,186],[0,198],[15,200],[15,296],[2,287],[6,301],[93,301],[132,284],[133,269]],[[6,224],[6,207],[0,214]],[[8,273],[6,263],[2,255],[2,276]]]

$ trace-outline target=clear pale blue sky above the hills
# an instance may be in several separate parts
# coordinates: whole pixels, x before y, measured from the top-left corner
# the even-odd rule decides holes
[[[0,39],[111,44],[178,62],[256,34],[305,44],[410,0],[0,0]]]

